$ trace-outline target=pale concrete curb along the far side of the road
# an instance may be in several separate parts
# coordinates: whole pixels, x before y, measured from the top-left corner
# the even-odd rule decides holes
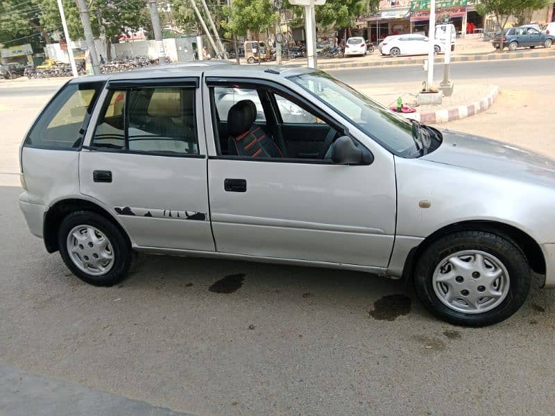
[[[538,52],[513,52],[513,53],[488,53],[487,55],[460,55],[453,56],[451,62],[480,62],[493,60],[512,60],[527,58],[547,58],[555,56],[555,51],[545,50]],[[427,58],[403,58],[394,60],[383,58],[377,62],[349,62],[345,64],[325,64],[323,60],[318,60],[319,69],[348,69],[348,68],[368,68],[368,67],[391,67],[394,65],[423,65]],[[434,59],[436,64],[443,64],[443,56]]]

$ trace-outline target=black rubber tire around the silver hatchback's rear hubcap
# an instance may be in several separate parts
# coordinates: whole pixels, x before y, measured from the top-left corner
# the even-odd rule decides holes
[[[92,225],[108,237],[113,249],[114,264],[104,275],[89,275],[80,270],[71,260],[67,251],[67,236],[71,229],[78,225]],[[114,284],[118,284],[126,278],[133,259],[133,251],[127,236],[112,221],[92,211],[76,211],[62,220],[58,230],[58,247],[67,268],[79,279],[93,286],[114,286]]]

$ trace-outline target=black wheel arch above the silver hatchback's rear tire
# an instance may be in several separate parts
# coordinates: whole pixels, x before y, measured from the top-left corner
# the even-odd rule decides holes
[[[121,231],[130,244],[133,243],[127,230],[107,209],[90,200],[81,198],[65,198],[58,200],[51,207],[49,207],[48,211],[44,213],[42,236],[47,252],[53,253],[58,251],[58,229],[60,228],[60,224],[67,215],[75,211],[92,211],[96,212],[96,214],[104,216],[110,220],[119,229],[119,231]]]

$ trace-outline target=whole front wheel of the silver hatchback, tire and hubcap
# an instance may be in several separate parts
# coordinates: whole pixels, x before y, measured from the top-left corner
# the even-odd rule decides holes
[[[482,327],[518,311],[530,288],[522,251],[503,236],[477,230],[441,237],[429,245],[414,274],[426,309],[451,324]]]

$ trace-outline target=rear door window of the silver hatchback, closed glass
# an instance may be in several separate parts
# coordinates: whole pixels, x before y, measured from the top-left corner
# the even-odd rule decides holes
[[[198,155],[195,89],[139,88],[110,92],[92,146],[156,154]]]

